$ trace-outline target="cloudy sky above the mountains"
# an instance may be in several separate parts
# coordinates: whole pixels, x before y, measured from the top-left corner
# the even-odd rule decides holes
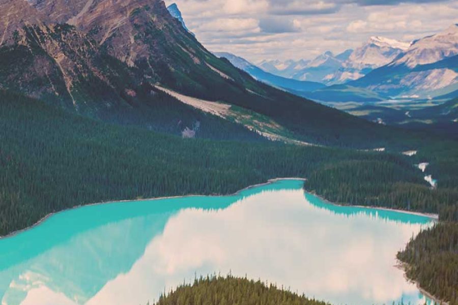
[[[458,23],[458,0],[165,0],[209,50],[253,63],[312,59],[371,36],[410,42]]]

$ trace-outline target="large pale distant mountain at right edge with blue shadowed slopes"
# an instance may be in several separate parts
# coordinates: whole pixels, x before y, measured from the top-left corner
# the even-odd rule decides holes
[[[458,89],[458,25],[414,41],[389,64],[349,85],[391,97],[429,98]]]

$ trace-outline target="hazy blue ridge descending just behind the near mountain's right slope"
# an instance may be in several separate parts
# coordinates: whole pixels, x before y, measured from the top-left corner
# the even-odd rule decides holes
[[[289,90],[290,92],[311,92],[320,88],[325,87],[324,84],[312,81],[300,81],[290,78],[285,78],[281,76],[268,73],[259,67],[249,63],[246,59],[236,56],[231,53],[215,53],[218,57],[226,58],[233,64],[235,67],[247,72],[249,75],[255,79],[262,81],[271,86]]]

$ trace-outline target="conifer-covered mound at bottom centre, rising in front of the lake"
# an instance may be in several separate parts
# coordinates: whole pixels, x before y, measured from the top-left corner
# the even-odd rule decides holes
[[[275,285],[233,276],[201,277],[162,294],[154,305],[326,305]]]

